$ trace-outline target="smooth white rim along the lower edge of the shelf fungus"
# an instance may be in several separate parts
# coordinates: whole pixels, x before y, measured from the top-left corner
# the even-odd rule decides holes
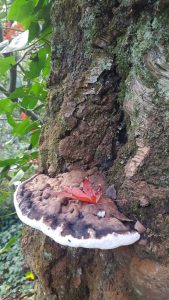
[[[30,180],[30,179],[29,179]],[[27,181],[29,181],[27,180]],[[25,184],[27,181],[23,182],[21,185]],[[59,226],[56,229],[52,229],[43,222],[43,217],[37,221],[29,219],[27,216],[22,214],[17,201],[17,192],[21,185],[16,189],[14,194],[14,205],[19,219],[26,225],[38,229],[45,235],[52,238],[55,242],[70,247],[83,247],[83,248],[97,248],[97,249],[115,249],[121,246],[127,246],[134,244],[140,239],[140,234],[137,231],[126,232],[126,233],[109,233],[102,238],[75,238],[72,235],[62,236],[62,227]]]

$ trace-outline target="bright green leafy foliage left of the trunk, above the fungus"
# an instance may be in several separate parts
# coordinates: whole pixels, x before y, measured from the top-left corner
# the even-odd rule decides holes
[[[0,52],[0,116],[6,118],[15,144],[23,147],[22,151],[18,149],[17,155],[12,153],[0,161],[0,179],[6,177],[11,181],[20,170],[25,173],[32,168],[32,162],[36,162],[50,71],[50,5],[50,0],[15,0],[12,5],[6,5],[8,14],[1,21],[0,36],[4,40],[11,39],[9,46],[12,47],[15,36],[22,36],[23,30],[29,30],[29,42],[22,51],[14,47],[9,48],[14,51],[8,55],[3,54],[3,49]],[[0,2],[1,12],[3,7]],[[19,43],[22,44],[22,39],[16,47]],[[22,118],[22,113],[27,118]]]

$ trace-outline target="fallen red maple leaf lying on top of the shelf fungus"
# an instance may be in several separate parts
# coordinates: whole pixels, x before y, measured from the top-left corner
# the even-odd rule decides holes
[[[53,195],[80,200],[82,202],[97,203],[102,196],[102,190],[99,186],[98,190],[94,191],[89,179],[86,177],[83,180],[83,191],[80,188],[64,186],[63,191],[54,192]]]

